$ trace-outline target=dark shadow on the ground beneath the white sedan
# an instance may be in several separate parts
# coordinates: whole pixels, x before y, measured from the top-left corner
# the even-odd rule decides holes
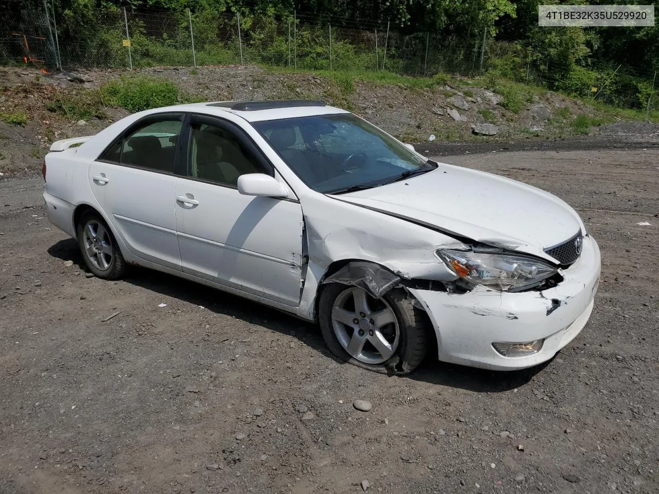
[[[72,238],[60,240],[48,249],[48,253],[63,261],[73,261],[74,265],[88,271],[80,250],[78,250],[78,243]],[[295,337],[310,346],[310,348],[335,360],[335,362],[349,365],[329,352],[317,325],[258,302],[252,302],[246,298],[221,292],[200,283],[142,267],[130,267],[129,273],[122,281],[196,306],[203,306],[207,310],[215,312],[215,314],[236,317],[246,323],[258,324],[273,331]],[[432,343],[434,345],[434,341]],[[416,371],[401,378],[456,387],[476,393],[500,393],[525,385],[550,362],[521,371],[488,371],[438,362],[437,350],[432,348],[428,352],[426,360]]]

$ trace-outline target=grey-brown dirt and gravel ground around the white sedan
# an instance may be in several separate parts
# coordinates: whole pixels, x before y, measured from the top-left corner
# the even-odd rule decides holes
[[[592,318],[547,365],[340,364],[258,304],[88,277],[41,177],[0,181],[0,493],[657,493],[659,151],[442,161],[558,194],[599,242]]]

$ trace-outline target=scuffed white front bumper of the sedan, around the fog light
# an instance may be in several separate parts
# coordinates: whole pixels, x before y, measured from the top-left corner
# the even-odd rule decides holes
[[[492,370],[524,369],[546,362],[586,325],[601,269],[600,249],[585,236],[581,257],[563,281],[543,291],[497,292],[483,287],[463,294],[410,288],[435,329],[439,359]],[[544,339],[531,355],[505,357],[492,343]]]

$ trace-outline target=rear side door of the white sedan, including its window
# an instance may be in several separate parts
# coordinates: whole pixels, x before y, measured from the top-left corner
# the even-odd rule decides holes
[[[147,261],[181,269],[175,184],[185,113],[149,115],[101,153],[89,184],[113,230]]]

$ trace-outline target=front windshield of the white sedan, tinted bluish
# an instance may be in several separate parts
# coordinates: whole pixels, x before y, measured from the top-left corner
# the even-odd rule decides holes
[[[351,192],[436,167],[351,113],[252,125],[316,192]]]

